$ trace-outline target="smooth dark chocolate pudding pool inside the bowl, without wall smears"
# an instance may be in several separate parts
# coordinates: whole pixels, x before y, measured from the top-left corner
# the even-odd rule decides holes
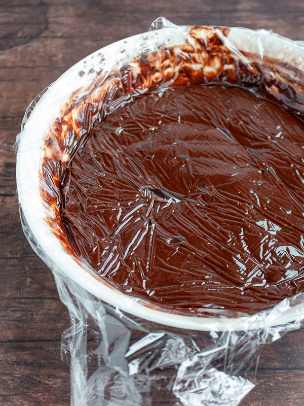
[[[237,87],[146,93],[106,116],[62,181],[81,259],[177,311],[267,308],[304,287],[304,124]]]

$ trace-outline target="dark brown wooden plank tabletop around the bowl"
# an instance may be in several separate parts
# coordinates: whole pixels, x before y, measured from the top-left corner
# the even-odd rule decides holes
[[[19,220],[12,145],[33,97],[91,52],[176,24],[272,29],[304,40],[302,0],[0,0],[0,405],[70,404],[60,359],[69,326],[53,276]],[[267,346],[244,406],[304,405],[304,329]],[[155,405],[157,406],[157,405]]]

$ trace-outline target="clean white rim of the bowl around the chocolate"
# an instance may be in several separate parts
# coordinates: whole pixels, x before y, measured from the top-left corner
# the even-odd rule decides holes
[[[290,307],[288,301],[278,310],[238,318],[180,316],[153,309],[109,286],[84,264],[75,260],[63,249],[60,240],[45,221],[48,213],[40,192],[44,137],[60,114],[60,107],[67,103],[74,91],[88,88],[101,69],[110,70],[117,64],[120,66],[132,61],[142,49],[153,50],[164,44],[167,47],[184,44],[187,33],[188,27],[170,27],[108,45],[72,66],[48,88],[24,125],[17,154],[17,190],[26,222],[46,254],[45,258],[51,258],[70,279],[112,306],[143,319],[183,329],[216,331],[261,328],[300,319],[304,317],[304,303]],[[231,28],[225,41],[236,53],[239,50],[270,56],[304,72],[304,48],[271,32]],[[102,59],[100,54],[103,55]],[[79,75],[80,71],[84,72],[83,76]]]

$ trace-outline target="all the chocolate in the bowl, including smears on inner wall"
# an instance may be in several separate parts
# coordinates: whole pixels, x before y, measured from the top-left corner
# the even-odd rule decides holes
[[[64,248],[174,311],[252,312],[303,288],[303,74],[234,54],[228,32],[194,27],[100,73],[46,140],[42,195]]]

